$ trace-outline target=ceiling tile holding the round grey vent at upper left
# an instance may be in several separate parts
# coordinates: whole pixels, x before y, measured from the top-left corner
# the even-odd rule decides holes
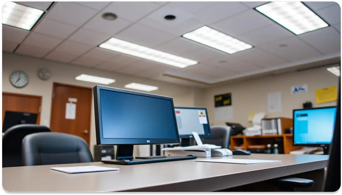
[[[116,33],[118,33],[120,30],[126,28],[127,26],[131,24],[131,22],[124,20],[120,17],[114,21],[104,20],[102,18],[103,13],[104,12],[97,14],[91,21],[89,21],[86,25],[84,25],[83,28],[95,30],[100,33],[113,36]]]

